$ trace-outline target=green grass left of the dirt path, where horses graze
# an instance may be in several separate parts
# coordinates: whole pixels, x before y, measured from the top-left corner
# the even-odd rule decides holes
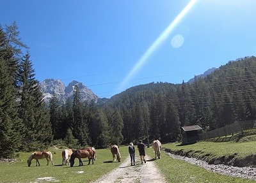
[[[18,162],[0,163],[0,182],[36,182],[36,179],[43,177],[54,177],[60,182],[90,182],[120,165],[118,162],[111,162],[113,158],[110,149],[97,150],[97,160],[94,165],[87,165],[88,159],[86,158],[82,159],[84,166],[78,166],[79,161],[75,159],[74,167],[61,165],[61,150],[49,150],[52,152],[54,166],[47,166],[46,159],[40,159],[40,166],[35,166],[36,161],[33,159],[31,166],[28,167],[27,159],[31,153],[20,152]],[[128,155],[127,147],[120,147],[120,153],[123,157],[121,159],[122,163],[124,157]]]

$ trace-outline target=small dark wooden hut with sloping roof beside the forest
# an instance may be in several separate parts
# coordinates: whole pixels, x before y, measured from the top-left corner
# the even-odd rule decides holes
[[[200,126],[183,126],[182,127],[182,143],[195,143],[199,139],[198,131],[202,130]]]

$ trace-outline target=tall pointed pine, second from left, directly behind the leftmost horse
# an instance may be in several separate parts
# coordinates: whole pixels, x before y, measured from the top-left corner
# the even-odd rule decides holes
[[[24,150],[38,150],[52,142],[52,129],[39,82],[35,79],[35,70],[33,70],[29,57],[27,52],[20,62],[19,117],[26,128]]]

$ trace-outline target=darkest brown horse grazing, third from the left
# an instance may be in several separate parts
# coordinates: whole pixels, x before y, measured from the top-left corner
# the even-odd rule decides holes
[[[71,167],[74,165],[76,157],[79,159],[79,166],[83,166],[83,162],[82,162],[81,158],[86,158],[86,157],[88,157],[88,159],[89,159],[88,165],[90,165],[91,159],[92,159],[92,165],[93,165],[94,152],[93,152],[92,148],[75,150],[72,153],[72,155],[70,156],[70,166]]]

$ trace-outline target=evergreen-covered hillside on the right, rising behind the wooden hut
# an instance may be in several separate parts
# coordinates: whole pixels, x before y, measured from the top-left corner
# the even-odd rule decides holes
[[[193,84],[163,82],[138,85],[113,96],[105,106],[120,108],[124,142],[180,140],[182,126],[202,132],[236,121],[256,119],[256,58],[230,61]],[[148,133],[148,134],[147,134]]]

